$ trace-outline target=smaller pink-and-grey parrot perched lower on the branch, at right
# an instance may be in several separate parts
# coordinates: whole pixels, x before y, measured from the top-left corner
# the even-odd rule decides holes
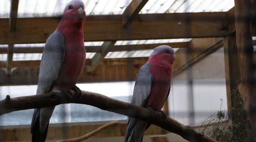
[[[172,64],[175,55],[172,47],[158,46],[150,54],[148,61],[140,68],[135,80],[132,104],[136,104],[151,111],[161,111],[163,103],[170,92]],[[165,113],[163,113],[166,116]],[[150,123],[128,117],[124,141],[142,142],[144,131]]]

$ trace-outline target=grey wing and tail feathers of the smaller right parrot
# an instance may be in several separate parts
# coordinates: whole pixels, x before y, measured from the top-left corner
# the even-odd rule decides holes
[[[132,96],[132,104],[138,106],[144,106],[146,99],[151,91],[151,85],[154,76],[149,71],[150,63],[145,63],[139,70]],[[132,117],[127,118],[127,129],[125,133],[125,142],[128,141],[129,135],[131,134],[133,127],[135,125],[136,119]]]

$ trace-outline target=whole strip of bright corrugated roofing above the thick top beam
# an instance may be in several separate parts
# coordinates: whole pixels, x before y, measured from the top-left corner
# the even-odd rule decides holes
[[[62,15],[70,0],[19,0],[18,17]],[[86,15],[122,14],[131,0],[82,0]],[[234,7],[234,0],[148,0],[140,13],[219,12]],[[1,0],[0,18],[10,17],[10,0]]]

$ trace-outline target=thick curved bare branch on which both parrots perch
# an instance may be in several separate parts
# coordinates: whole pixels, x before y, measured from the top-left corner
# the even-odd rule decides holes
[[[190,126],[184,126],[170,117],[165,121],[162,113],[158,111],[155,111],[155,115],[152,116],[150,110],[144,107],[112,99],[98,93],[82,91],[83,96],[81,99],[78,99],[75,92],[73,90],[71,90],[71,92],[71,98],[64,93],[57,92],[16,98],[10,98],[7,95],[8,97],[6,99],[0,101],[0,115],[11,113],[12,111],[56,106],[63,103],[79,103],[140,119],[162,127],[172,133],[176,133],[191,142],[217,142],[207,135],[204,135],[202,132],[193,129]]]

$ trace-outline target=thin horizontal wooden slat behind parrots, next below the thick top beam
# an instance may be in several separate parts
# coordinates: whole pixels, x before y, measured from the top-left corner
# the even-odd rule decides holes
[[[189,42],[174,42],[174,43],[153,43],[153,44],[131,44],[131,45],[118,45],[114,46],[109,52],[117,51],[135,51],[135,50],[150,50],[155,47],[167,45],[172,48],[186,48]],[[86,52],[101,52],[101,46],[85,46]],[[15,47],[14,53],[42,53],[44,47]],[[8,48],[0,48],[0,54],[7,54]]]

